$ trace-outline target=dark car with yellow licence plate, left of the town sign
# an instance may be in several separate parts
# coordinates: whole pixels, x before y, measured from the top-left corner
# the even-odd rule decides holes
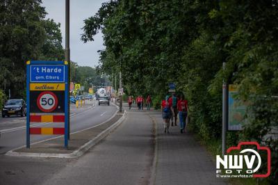
[[[8,99],[4,107],[2,108],[2,118],[10,115],[27,115],[26,102],[24,99]]]

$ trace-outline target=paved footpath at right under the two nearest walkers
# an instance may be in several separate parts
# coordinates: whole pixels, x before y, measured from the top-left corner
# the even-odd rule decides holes
[[[150,111],[156,122],[156,171],[154,184],[225,184],[215,177],[215,163],[205,148],[187,131],[170,126],[165,134],[160,112]]]

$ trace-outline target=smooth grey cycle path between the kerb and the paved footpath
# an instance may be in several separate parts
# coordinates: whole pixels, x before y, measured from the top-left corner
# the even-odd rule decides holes
[[[154,125],[142,112],[126,120],[78,160],[52,175],[45,184],[150,184]]]

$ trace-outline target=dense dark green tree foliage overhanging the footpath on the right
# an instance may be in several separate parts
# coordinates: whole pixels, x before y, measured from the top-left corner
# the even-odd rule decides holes
[[[277,154],[275,134],[269,138],[278,126],[277,8],[274,0],[109,1],[85,19],[81,39],[102,31],[98,69],[121,70],[127,93],[160,102],[177,83],[189,102],[190,127],[206,141],[221,135],[222,80],[238,84],[238,99],[251,102],[249,124],[240,137],[230,134],[229,145],[257,140]],[[270,181],[277,174],[273,169]]]

